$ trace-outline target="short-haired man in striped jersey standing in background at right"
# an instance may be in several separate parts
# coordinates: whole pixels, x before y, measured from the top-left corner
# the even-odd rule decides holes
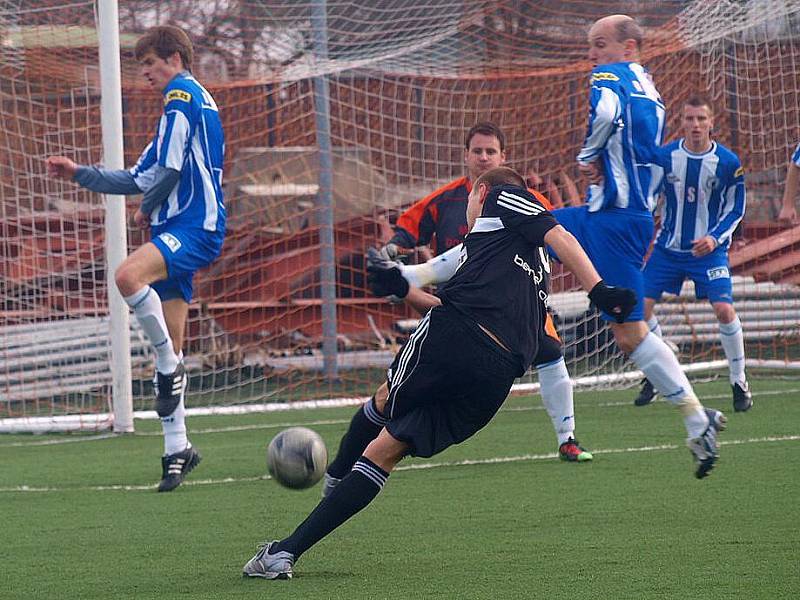
[[[750,410],[753,396],[745,376],[742,323],[733,308],[728,266],[731,236],[745,211],[744,170],[739,157],[711,138],[711,102],[692,96],[683,105],[683,138],[658,153],[664,168],[661,227],[644,269],[644,318],[661,337],[653,308],[664,292],[679,294],[691,279],[695,296],[707,299],[719,321],[720,340],[728,359],[733,408]],[[656,390],[645,379],[637,406],[652,402]]]

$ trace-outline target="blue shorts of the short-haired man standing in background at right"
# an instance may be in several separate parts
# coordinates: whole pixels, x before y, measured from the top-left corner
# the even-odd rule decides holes
[[[644,268],[644,295],[658,300],[661,294],[680,294],[686,279],[694,281],[694,295],[711,302],[733,304],[728,251],[717,248],[705,256],[671,252],[659,246]]]

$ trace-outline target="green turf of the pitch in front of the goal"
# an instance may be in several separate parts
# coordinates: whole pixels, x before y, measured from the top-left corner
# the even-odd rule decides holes
[[[257,542],[288,534],[319,499],[319,486],[261,479],[266,445],[308,425],[332,454],[353,409],[190,419],[204,460],[169,494],[154,491],[158,422],[107,439],[4,436],[0,597],[796,598],[800,440],[775,438],[800,434],[800,382],[752,387],[755,407],[740,414],[726,381],[697,386],[729,417],[703,481],[663,402],[578,394],[595,460],[566,464],[540,399],[511,398],[471,440],[407,461],[291,581],[240,577]]]

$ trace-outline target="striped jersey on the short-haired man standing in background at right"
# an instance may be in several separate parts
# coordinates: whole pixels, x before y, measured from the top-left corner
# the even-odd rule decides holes
[[[684,140],[661,148],[664,212],[656,244],[691,252],[692,242],[710,235],[720,247],[744,216],[744,171],[739,157],[718,142],[703,154],[689,152]]]

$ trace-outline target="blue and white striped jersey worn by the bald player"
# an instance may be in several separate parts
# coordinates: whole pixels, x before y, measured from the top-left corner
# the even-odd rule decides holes
[[[655,206],[661,169],[653,163],[664,139],[665,108],[642,65],[621,62],[592,70],[589,126],[578,162],[599,160],[602,185],[589,186],[590,212]]]

